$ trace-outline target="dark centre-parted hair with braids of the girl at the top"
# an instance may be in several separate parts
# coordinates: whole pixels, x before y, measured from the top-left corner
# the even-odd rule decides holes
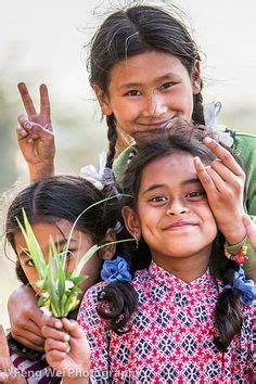
[[[181,61],[191,78],[195,61],[201,61],[200,50],[181,20],[150,5],[135,5],[111,14],[93,36],[89,49],[90,84],[100,87],[103,94],[107,94],[112,68],[127,57],[152,50],[170,53]],[[195,124],[204,124],[202,93],[194,94],[193,101],[192,119]],[[106,124],[107,166],[111,168],[117,141],[114,114],[106,116]]]

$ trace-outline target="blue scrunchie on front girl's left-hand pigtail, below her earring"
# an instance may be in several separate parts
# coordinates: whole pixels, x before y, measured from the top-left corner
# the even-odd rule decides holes
[[[131,274],[129,272],[130,266],[121,256],[117,256],[114,260],[105,260],[101,270],[102,280],[107,283],[116,281],[131,282]]]

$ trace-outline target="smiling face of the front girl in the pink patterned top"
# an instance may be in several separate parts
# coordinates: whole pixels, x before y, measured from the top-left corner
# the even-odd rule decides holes
[[[191,154],[180,151],[149,164],[137,213],[128,212],[128,229],[143,236],[156,264],[210,255],[217,227]]]

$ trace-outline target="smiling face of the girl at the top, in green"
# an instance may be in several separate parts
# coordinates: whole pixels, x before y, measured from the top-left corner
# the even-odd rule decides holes
[[[117,63],[99,101],[103,114],[114,114],[118,127],[139,141],[140,132],[166,127],[175,117],[190,121],[200,86],[197,62],[191,78],[177,56],[152,50]]]

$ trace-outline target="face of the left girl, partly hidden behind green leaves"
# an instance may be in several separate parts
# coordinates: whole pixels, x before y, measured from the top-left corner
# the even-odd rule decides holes
[[[42,249],[42,253],[48,259],[49,254],[49,240],[50,235],[60,252],[64,251],[72,225],[69,221],[61,219],[54,225],[49,222],[38,222],[31,226],[37,241]],[[26,242],[21,232],[16,232],[14,235],[14,241],[16,244],[16,253],[21,261],[21,266],[35,291],[38,293],[38,289],[35,283],[38,280],[38,273],[34,266],[34,263],[29,255],[26,254]],[[69,254],[67,258],[67,270],[72,272],[85,253],[93,245],[91,238],[75,229],[72,235],[72,241],[69,245]],[[103,248],[104,249],[104,248]],[[80,289],[82,292],[88,290],[92,284],[99,281],[100,270],[101,270],[102,259],[98,254],[94,254],[89,261],[84,267],[81,274],[88,276],[81,284]]]

